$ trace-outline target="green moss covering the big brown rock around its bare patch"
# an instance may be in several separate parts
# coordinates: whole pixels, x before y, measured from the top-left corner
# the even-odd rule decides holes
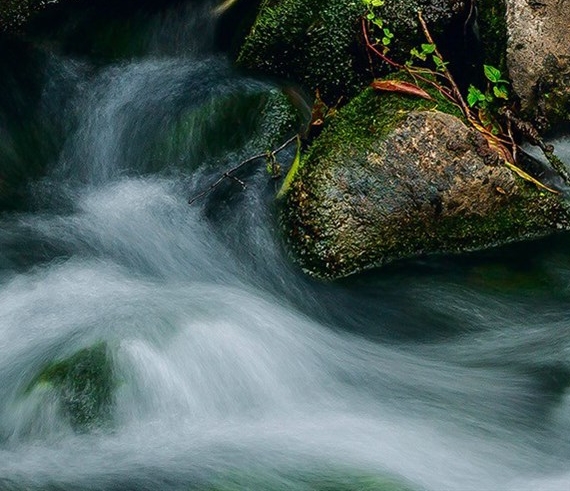
[[[382,141],[412,110],[437,109],[460,116],[457,107],[437,91],[428,90],[433,101],[367,89],[339,111],[310,147],[282,212],[290,245],[304,269],[334,278],[395,259],[480,250],[544,236],[558,226],[568,228],[569,210],[563,198],[541,192],[518,177],[513,177],[515,190],[508,198],[489,189],[498,197],[484,213],[473,204],[460,213],[440,216],[432,211],[435,205],[430,199],[437,200],[443,191],[431,190],[424,174],[414,174],[413,162],[408,162],[406,169],[410,170],[405,174],[410,179],[409,190],[399,176],[376,177],[369,155],[379,152],[387,162],[402,158],[397,153],[391,156],[390,147],[384,148]],[[414,138],[413,130],[401,137]],[[491,158],[485,140],[475,131],[465,138],[468,141],[458,144],[472,148],[482,159]],[[468,179],[467,169],[457,179]],[[414,179],[421,180],[418,188],[424,194],[417,194]],[[411,197],[398,200],[407,193]],[[402,204],[409,212],[393,208]],[[337,230],[334,223],[343,223],[343,227]]]

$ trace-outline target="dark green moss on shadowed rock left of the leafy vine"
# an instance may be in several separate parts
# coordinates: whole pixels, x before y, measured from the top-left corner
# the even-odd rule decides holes
[[[365,83],[360,0],[265,0],[238,63],[302,83],[334,104]]]

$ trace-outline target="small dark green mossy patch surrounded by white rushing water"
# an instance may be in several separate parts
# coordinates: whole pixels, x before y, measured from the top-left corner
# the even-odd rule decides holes
[[[74,430],[87,431],[110,421],[116,382],[106,343],[47,365],[26,392],[42,384],[58,391],[62,411]]]

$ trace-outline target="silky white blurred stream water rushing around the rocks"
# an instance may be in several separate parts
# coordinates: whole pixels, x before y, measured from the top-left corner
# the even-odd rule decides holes
[[[326,284],[263,163],[189,206],[280,94],[208,12],[150,18],[136,56],[38,48],[47,171],[0,216],[0,489],[570,489],[569,237]],[[81,430],[38,377],[94,346],[115,382]]]

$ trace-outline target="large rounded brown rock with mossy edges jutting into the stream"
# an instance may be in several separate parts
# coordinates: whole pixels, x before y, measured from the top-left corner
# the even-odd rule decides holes
[[[569,227],[559,195],[505,167],[444,101],[363,92],[314,142],[283,223],[308,272],[472,251]]]

